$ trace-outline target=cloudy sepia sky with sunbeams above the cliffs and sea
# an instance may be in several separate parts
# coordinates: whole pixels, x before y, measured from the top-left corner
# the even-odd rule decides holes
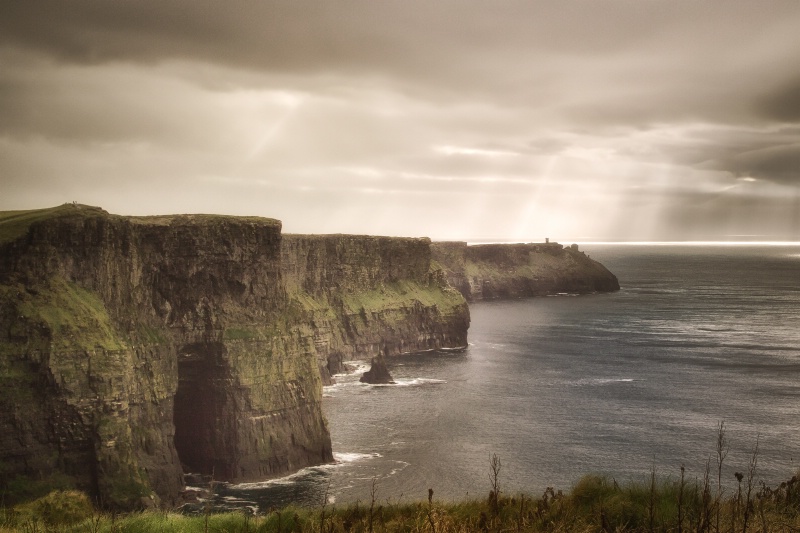
[[[0,210],[800,240],[797,0],[12,0]]]

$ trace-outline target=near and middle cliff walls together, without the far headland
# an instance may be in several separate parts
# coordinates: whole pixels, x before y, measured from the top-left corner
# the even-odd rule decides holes
[[[243,481],[330,461],[321,367],[463,346],[468,324],[425,239],[0,213],[0,491],[170,505],[184,472]]]

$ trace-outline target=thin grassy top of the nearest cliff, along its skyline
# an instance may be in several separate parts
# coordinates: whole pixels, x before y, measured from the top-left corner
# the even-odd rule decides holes
[[[258,223],[280,228],[281,221],[274,218],[243,217],[232,215],[157,215],[146,217],[123,217],[112,215],[107,211],[83,204],[62,204],[46,209],[30,209],[25,211],[0,211],[0,244],[11,242],[27,233],[31,224],[62,217],[107,217],[128,220],[134,224],[168,226],[173,223],[212,224],[222,221]]]

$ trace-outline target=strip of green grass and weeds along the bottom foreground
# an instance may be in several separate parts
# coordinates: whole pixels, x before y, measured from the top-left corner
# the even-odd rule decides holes
[[[613,479],[590,475],[563,494],[548,489],[536,497],[501,495],[497,507],[488,498],[442,502],[434,497],[395,504],[375,499],[344,506],[290,506],[258,516],[242,512],[187,516],[165,511],[110,515],[90,510],[85,497],[69,491],[0,511],[0,532],[797,531],[798,484],[800,481],[790,481],[776,489],[761,487],[754,490],[749,502],[736,491],[704,502],[702,487],[694,482],[686,483],[679,496],[681,484],[674,479],[656,480],[652,485],[619,485]],[[376,487],[379,493],[380,484]]]

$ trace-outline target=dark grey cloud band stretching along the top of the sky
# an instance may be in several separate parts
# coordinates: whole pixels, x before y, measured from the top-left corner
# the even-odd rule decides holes
[[[33,0],[4,11],[0,42],[61,61],[189,59],[271,72],[385,75],[417,83],[408,90],[520,105],[566,96],[576,109],[595,101],[613,108],[613,95],[641,111],[651,99],[671,112],[693,101],[686,96],[719,102],[734,85],[720,91],[715,81],[774,82],[774,73],[764,73],[775,65],[760,54],[797,58],[774,57],[796,29],[792,1]]]

